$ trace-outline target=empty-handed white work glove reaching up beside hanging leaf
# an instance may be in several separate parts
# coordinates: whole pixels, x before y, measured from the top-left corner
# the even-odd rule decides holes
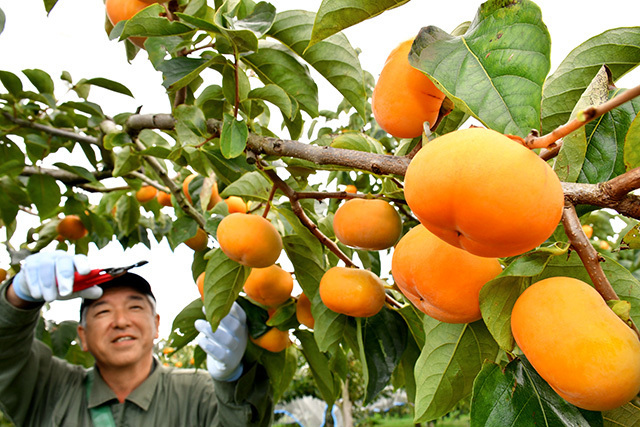
[[[218,381],[235,381],[242,375],[242,356],[247,348],[247,316],[234,302],[229,314],[221,321],[215,332],[211,324],[198,319],[194,323],[200,331],[196,343],[207,353],[207,369]]]

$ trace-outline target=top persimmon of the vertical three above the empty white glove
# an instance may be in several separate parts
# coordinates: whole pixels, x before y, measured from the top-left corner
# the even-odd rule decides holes
[[[224,217],[218,224],[216,237],[222,252],[247,267],[268,267],[282,252],[280,233],[258,215],[236,212]]]

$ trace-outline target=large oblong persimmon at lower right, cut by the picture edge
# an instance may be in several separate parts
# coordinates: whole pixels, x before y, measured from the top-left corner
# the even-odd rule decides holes
[[[511,312],[518,347],[567,402],[618,408],[640,391],[640,341],[587,283],[551,277],[529,286]]]

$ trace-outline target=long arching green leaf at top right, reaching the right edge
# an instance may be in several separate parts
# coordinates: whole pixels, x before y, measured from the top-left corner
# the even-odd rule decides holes
[[[585,41],[560,63],[544,83],[542,132],[569,121],[574,106],[602,65],[613,81],[640,63],[640,27],[614,28]]]

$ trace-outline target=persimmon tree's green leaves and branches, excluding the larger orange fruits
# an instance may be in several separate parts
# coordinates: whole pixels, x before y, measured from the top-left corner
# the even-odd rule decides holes
[[[50,10],[56,2],[44,3]],[[175,248],[202,228],[209,244],[194,252],[191,269],[194,281],[206,271],[204,301],[196,299],[174,320],[168,345],[180,349],[193,340],[193,321],[203,316],[203,306],[215,327],[238,300],[252,336],[275,326],[293,337],[294,345],[284,351],[250,344],[246,355],[271,374],[276,399],[288,388],[301,353],[331,406],[349,377],[351,353],[362,365],[364,403],[389,384],[403,387],[416,422],[438,419],[464,400],[471,402],[472,425],[640,420],[634,401],[602,413],[567,403],[522,355],[510,329],[511,309],[524,289],[563,275],[594,285],[607,301],[628,302],[611,305],[637,331],[640,91],[615,82],[640,63],[640,27],[593,36],[550,72],[550,36],[531,1],[488,1],[453,33],[425,22],[410,63],[446,100],[422,137],[396,139],[373,119],[375,79],[341,31],[405,1],[325,0],[316,13],[251,0],[214,3],[151,4],[109,28],[130,60],[138,47],[127,38],[146,38],[144,49],[163,76],[158,90],[166,90],[173,105],[170,114],[105,115],[90,96],[92,86],[130,95],[108,76],[75,81],[63,73],[77,99],[61,102],[54,87],[63,83],[46,70],[0,71],[0,218],[14,272],[31,252],[58,247],[86,253],[90,244],[102,248],[114,237],[123,248],[150,246],[150,239],[167,239]],[[319,111],[310,69],[344,97],[334,111]],[[207,84],[205,71],[215,73],[219,84]],[[25,89],[27,81],[35,91]],[[281,117],[282,129],[273,127],[272,114]],[[340,114],[347,123],[332,127],[330,120]],[[332,219],[341,199],[389,201],[408,231],[418,224],[403,196],[412,156],[434,137],[468,127],[469,118],[539,151],[553,167],[565,196],[555,233],[538,248],[500,260],[502,273],[480,292],[482,320],[450,324],[430,318],[392,280],[385,307],[373,317],[329,310],[318,284],[331,267],[388,273],[381,270],[390,251],[353,249],[336,239]],[[311,142],[300,142],[304,132]],[[82,159],[47,162],[75,147]],[[189,201],[182,182],[193,173],[198,176],[189,183]],[[172,207],[156,199],[140,203],[135,193],[148,185],[171,194]],[[359,193],[339,191],[346,185],[356,185]],[[229,214],[225,203],[208,209],[215,186],[222,198],[241,197],[249,214],[276,226],[295,281],[311,300],[313,330],[296,320],[294,297],[270,315],[243,294],[250,268],[230,260],[215,241],[218,224]],[[71,214],[88,234],[57,240],[57,224]],[[20,236],[20,248],[11,247],[8,240],[24,215],[37,216],[41,225]],[[622,232],[614,232],[614,220],[623,224]],[[614,251],[594,246],[583,223],[594,227],[600,241],[617,238]],[[204,360],[198,349],[194,360]]]

